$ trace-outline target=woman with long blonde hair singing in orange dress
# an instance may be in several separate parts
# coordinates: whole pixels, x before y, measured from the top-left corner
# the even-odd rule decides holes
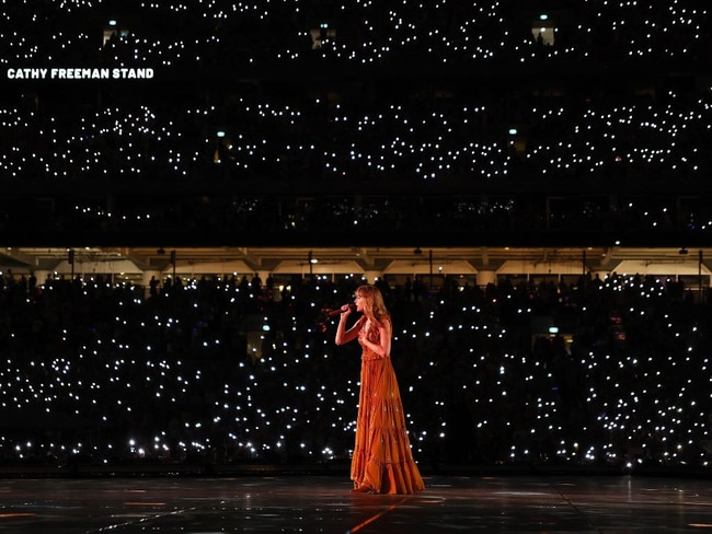
[[[359,287],[355,304],[361,317],[346,329],[353,309],[345,305],[336,329],[336,345],[358,338],[363,348],[352,491],[414,494],[424,489],[425,484],[411,452],[391,363],[391,317],[375,286]]]

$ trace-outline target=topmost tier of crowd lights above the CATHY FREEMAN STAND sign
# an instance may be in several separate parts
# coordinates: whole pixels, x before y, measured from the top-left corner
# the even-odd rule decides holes
[[[710,12],[694,0],[18,0],[3,1],[1,12],[12,28],[2,35],[5,65],[94,59],[96,28],[85,23],[110,20],[127,46],[103,51],[108,60],[191,68],[272,66],[310,50],[354,65],[404,58],[520,65],[537,54],[679,63],[705,58],[710,44]],[[56,31],[45,32],[47,24]],[[555,38],[542,40],[541,28],[555,30]]]

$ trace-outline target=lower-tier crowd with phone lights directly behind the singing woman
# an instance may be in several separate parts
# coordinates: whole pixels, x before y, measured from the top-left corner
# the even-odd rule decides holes
[[[346,460],[360,352],[334,345],[323,310],[349,302],[360,282],[179,278],[145,292],[5,272],[1,457]],[[616,274],[559,285],[437,282],[377,281],[425,468],[707,468],[707,295]]]

